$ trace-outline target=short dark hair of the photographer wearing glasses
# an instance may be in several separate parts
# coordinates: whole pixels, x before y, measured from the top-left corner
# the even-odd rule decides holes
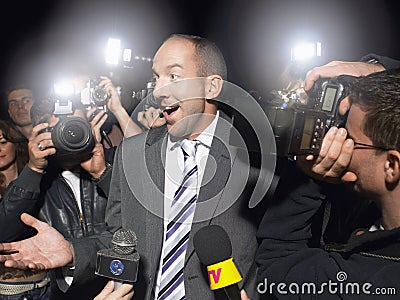
[[[400,72],[360,77],[351,88],[350,103],[365,111],[362,129],[374,145],[400,150]]]

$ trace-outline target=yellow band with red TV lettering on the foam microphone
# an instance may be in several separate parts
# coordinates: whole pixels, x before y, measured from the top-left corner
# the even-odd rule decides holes
[[[224,288],[242,280],[233,258],[207,266],[207,273],[211,290]]]

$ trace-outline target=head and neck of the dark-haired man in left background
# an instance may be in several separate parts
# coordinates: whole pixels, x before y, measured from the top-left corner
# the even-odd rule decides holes
[[[32,89],[25,85],[9,88],[6,92],[8,115],[18,130],[27,138],[32,133],[30,109],[35,103]]]

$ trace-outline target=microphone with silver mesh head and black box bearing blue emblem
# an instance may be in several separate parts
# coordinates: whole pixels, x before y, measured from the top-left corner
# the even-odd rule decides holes
[[[111,249],[97,251],[95,274],[116,280],[116,290],[123,282],[136,282],[140,256],[136,234],[130,229],[117,230],[111,242]]]

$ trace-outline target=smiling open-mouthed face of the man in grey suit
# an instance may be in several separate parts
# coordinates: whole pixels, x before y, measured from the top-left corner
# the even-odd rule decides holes
[[[177,138],[197,136],[216,113],[215,105],[205,100],[206,79],[198,77],[194,54],[191,42],[173,38],[154,57],[154,98],[164,112],[168,132]]]

